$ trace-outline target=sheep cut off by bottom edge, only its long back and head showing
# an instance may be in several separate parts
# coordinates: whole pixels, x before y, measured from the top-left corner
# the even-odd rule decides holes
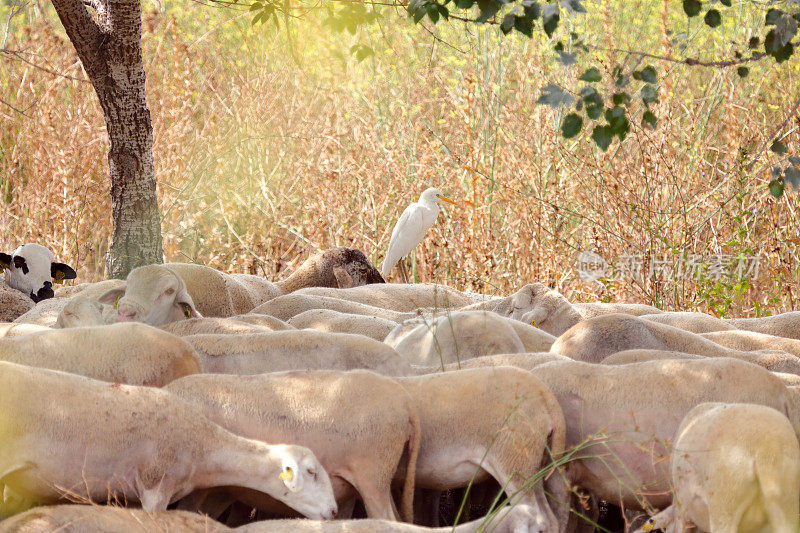
[[[492,516],[458,526],[429,528],[386,520],[263,520],[238,527],[241,533],[536,533],[544,531],[542,519],[530,505],[503,507]]]

